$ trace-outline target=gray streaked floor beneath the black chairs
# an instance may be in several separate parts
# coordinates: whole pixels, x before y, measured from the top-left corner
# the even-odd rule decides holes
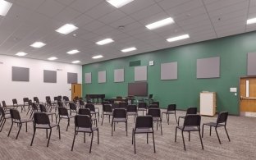
[[[101,109],[101,106],[99,106]],[[142,115],[142,112],[139,112]],[[185,115],[185,112],[177,111],[177,117]],[[25,117],[25,113],[21,113]],[[216,121],[217,117],[202,117],[201,124],[209,121]],[[37,130],[34,137],[34,144],[30,146],[33,135],[33,124],[28,124],[28,132],[25,132],[25,125],[22,126],[18,139],[17,126],[13,126],[11,135],[7,137],[11,126],[11,120],[7,120],[0,133],[0,159],[256,159],[256,118],[229,116],[227,130],[231,142],[226,137],[223,128],[218,129],[222,144],[218,143],[215,130],[209,136],[209,127],[205,127],[203,136],[204,150],[201,149],[198,133],[191,132],[191,139],[185,133],[186,151],[183,149],[181,130],[177,131],[177,142],[174,142],[176,121],[170,115],[170,125],[166,117],[163,117],[162,132],[160,128],[155,131],[156,153],[153,153],[152,136],[149,135],[149,144],[146,142],[146,135],[136,135],[136,154],[131,144],[131,131],[135,126],[133,117],[128,120],[128,136],[126,136],[125,124],[116,125],[116,131],[111,136],[111,126],[108,117],[104,117],[103,126],[98,122],[99,144],[97,144],[97,132],[94,134],[92,153],[89,153],[90,136],[86,135],[84,143],[83,134],[78,134],[75,139],[74,151],[71,151],[71,144],[74,137],[74,119],[71,119],[71,126],[66,131],[66,119],[61,121],[62,139],[58,139],[58,131],[53,128],[49,147],[45,130]],[[182,124],[182,121],[181,121]]]

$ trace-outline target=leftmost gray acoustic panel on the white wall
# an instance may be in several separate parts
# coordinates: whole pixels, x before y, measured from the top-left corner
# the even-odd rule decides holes
[[[30,68],[12,66],[12,81],[30,81]]]

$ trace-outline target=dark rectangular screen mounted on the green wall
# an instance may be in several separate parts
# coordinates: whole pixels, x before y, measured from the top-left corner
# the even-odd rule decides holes
[[[148,83],[147,82],[129,83],[128,95],[148,96]]]

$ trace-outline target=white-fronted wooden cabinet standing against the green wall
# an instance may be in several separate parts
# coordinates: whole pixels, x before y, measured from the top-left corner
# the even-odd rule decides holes
[[[201,92],[200,93],[200,115],[214,116],[216,112],[216,93]]]

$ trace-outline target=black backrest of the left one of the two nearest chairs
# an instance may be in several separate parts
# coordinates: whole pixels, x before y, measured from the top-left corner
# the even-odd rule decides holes
[[[75,127],[92,128],[92,120],[88,115],[75,115]]]

